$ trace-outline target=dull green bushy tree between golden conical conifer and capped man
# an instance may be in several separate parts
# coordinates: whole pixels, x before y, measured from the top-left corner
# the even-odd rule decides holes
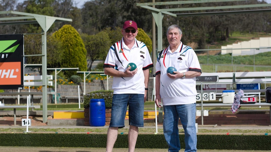
[[[95,60],[105,60],[111,41],[106,31],[101,31],[95,35],[82,34],[81,36],[86,46],[87,59],[90,60],[87,65],[88,70],[91,71],[92,63]]]

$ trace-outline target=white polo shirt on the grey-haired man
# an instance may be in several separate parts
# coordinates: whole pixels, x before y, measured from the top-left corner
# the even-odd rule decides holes
[[[195,51],[181,44],[173,53],[170,47],[162,50],[156,62],[156,74],[160,75],[160,96],[163,105],[180,105],[196,103],[196,77],[171,79],[167,76],[167,68],[173,66],[179,72],[197,71],[201,67]]]

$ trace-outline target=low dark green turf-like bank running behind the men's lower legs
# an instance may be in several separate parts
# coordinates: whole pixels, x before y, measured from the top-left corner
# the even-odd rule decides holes
[[[0,134],[0,146],[106,147],[106,134]],[[197,149],[270,150],[270,135],[197,135]],[[146,142],[147,141],[147,142]],[[185,148],[184,134],[180,134]],[[154,144],[155,143],[155,144]],[[118,134],[115,148],[128,148],[128,134]],[[167,149],[163,134],[139,134],[136,148]]]

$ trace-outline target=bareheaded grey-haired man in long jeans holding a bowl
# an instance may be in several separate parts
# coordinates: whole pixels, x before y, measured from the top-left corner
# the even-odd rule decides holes
[[[164,137],[169,152],[179,152],[179,118],[185,131],[185,152],[196,152],[196,76],[201,75],[201,67],[195,51],[180,40],[182,30],[171,25],[167,30],[169,47],[162,50],[156,61],[156,99],[161,107],[163,99]],[[169,67],[176,68],[172,74]]]

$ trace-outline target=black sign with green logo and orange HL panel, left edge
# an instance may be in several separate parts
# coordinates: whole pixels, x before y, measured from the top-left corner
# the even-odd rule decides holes
[[[24,35],[0,35],[0,89],[23,89]]]

